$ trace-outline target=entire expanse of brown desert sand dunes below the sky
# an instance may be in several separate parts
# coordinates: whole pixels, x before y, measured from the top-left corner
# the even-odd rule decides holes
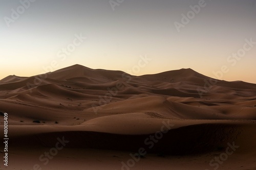
[[[191,69],[9,76],[4,113],[0,169],[256,169],[256,85]]]

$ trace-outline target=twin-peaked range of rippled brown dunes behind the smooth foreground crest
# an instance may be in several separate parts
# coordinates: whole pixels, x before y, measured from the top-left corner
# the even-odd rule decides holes
[[[84,114],[151,112],[178,119],[256,118],[255,84],[211,79],[189,68],[132,76],[73,65],[29,78],[9,76],[0,81],[0,89],[2,112],[24,118],[42,119],[33,109],[17,112],[17,106],[53,115],[63,110]]]

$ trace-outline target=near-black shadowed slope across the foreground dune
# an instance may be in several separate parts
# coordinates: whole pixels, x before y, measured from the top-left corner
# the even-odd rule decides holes
[[[255,147],[252,138],[249,144],[246,144],[246,135],[252,130],[252,126],[247,124],[200,124],[180,127],[169,130],[162,134],[161,139],[151,136],[156,134],[145,135],[125,135],[112,134],[92,131],[62,131],[51,133],[39,133],[24,137],[16,137],[12,140],[11,145],[19,145],[24,147],[55,147],[57,138],[64,138],[67,148],[93,148],[106,150],[122,150],[138,152],[140,148],[144,148],[147,153],[184,155],[184,154],[202,154],[212,151],[225,151],[227,143],[236,141],[240,146],[239,153],[253,153]],[[255,126],[253,132],[255,132]],[[159,135],[159,134],[158,134]],[[159,135],[160,136],[160,135]],[[157,142],[156,142],[157,140]],[[248,150],[250,149],[250,150]],[[246,151],[246,152],[244,152]]]

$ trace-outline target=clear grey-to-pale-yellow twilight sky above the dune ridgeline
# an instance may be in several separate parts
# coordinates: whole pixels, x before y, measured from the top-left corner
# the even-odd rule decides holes
[[[256,83],[256,0],[1,0],[0,16],[0,79],[81,64]]]

